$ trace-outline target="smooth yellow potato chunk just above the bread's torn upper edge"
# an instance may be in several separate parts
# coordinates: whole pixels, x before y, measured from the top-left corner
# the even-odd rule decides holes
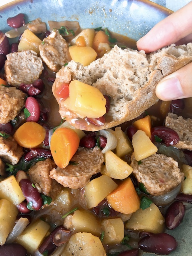
[[[75,62],[80,62],[83,66],[88,66],[96,59],[97,53],[90,46],[76,46],[69,47],[69,53]]]

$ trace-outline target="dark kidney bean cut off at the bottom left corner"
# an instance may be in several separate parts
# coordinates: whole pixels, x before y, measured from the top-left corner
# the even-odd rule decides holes
[[[0,246],[1,256],[26,256],[27,250],[21,244],[4,244]]]

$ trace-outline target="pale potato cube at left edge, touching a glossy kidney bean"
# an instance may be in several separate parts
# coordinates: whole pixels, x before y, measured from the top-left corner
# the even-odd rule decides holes
[[[13,175],[0,182],[0,199],[7,199],[16,206],[25,200],[22,190]]]

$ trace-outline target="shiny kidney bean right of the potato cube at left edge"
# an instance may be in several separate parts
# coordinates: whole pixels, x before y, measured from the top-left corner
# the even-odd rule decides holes
[[[26,198],[27,202],[32,202],[32,210],[40,210],[40,208],[43,205],[43,200],[36,188],[32,185],[30,180],[28,179],[23,179],[20,180],[19,185],[21,187],[21,190],[24,194],[24,197]]]

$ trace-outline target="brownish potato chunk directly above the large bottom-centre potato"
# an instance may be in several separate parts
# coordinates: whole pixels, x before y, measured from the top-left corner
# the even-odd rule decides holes
[[[101,225],[96,216],[86,210],[76,210],[72,216],[72,227],[76,232],[92,233],[100,236]]]

